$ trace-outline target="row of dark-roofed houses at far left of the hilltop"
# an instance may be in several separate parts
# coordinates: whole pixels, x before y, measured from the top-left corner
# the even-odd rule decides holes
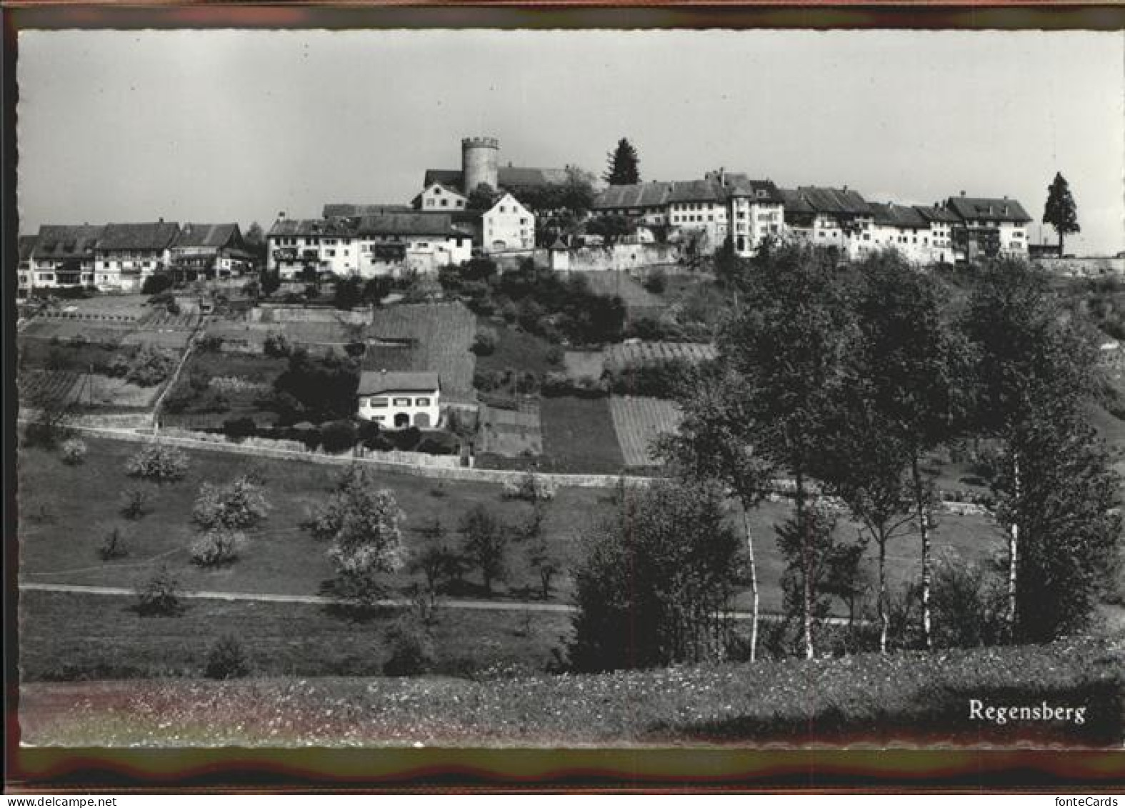
[[[176,222],[56,225],[20,236],[18,291],[97,287],[136,291],[147,277],[169,271],[177,280],[236,277],[253,257],[237,224]]]

